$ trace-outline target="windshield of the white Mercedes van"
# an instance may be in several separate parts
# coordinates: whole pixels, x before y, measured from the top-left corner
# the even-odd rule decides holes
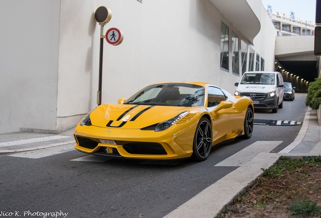
[[[263,84],[274,85],[275,74],[273,73],[246,73],[244,74],[241,84]]]

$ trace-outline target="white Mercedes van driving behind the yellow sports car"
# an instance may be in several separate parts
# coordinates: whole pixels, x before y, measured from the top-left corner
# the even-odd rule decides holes
[[[279,72],[253,71],[245,72],[237,86],[235,95],[252,99],[254,108],[278,112],[283,107],[284,84]]]

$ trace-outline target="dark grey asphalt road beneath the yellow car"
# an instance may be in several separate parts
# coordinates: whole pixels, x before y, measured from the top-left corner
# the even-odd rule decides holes
[[[303,122],[305,96],[296,93],[295,100],[285,101],[276,114],[257,110],[255,119]],[[300,127],[254,125],[251,139],[216,146],[203,162],[98,157],[75,161],[88,156],[76,150],[41,158],[0,155],[0,215],[44,217],[57,212],[53,213],[57,217],[77,218],[163,217],[237,169],[216,166],[221,161],[257,141],[282,141],[271,151],[279,152],[293,142]]]

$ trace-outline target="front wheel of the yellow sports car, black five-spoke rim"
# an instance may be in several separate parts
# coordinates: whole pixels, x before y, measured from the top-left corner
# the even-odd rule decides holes
[[[196,161],[203,161],[207,158],[212,147],[212,127],[207,118],[201,118],[197,124],[192,158]]]

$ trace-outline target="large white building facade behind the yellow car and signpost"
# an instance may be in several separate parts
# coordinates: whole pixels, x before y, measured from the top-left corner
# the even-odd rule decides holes
[[[242,72],[274,71],[277,31],[260,0],[0,1],[0,133],[59,133],[97,106],[100,6],[112,11],[104,31],[124,34],[103,43],[102,103],[164,81],[234,93]]]

